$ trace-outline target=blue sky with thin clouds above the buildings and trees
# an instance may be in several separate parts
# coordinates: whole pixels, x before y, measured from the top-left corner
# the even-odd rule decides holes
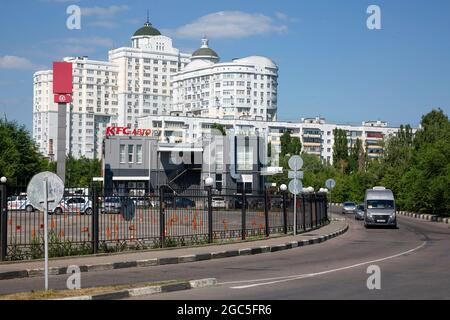
[[[82,10],[66,28],[67,6]],[[382,30],[368,30],[380,6]],[[31,129],[32,74],[64,56],[107,60],[150,20],[192,51],[206,33],[222,61],[259,54],[279,65],[281,120],[418,125],[450,110],[448,0],[27,0],[0,2],[0,115]]]

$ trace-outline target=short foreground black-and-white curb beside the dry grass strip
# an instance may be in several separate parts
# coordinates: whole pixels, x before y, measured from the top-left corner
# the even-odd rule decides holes
[[[53,300],[115,300],[115,299],[126,299],[131,297],[146,296],[165,292],[174,292],[198,288],[208,288],[213,287],[217,284],[217,279],[200,279],[191,281],[182,281],[177,283],[169,283],[160,286],[147,286],[133,289],[124,289],[108,293],[102,293],[91,296],[78,296],[62,299]]]

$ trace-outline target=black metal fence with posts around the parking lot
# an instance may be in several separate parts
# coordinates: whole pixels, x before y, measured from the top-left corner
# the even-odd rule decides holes
[[[43,257],[44,213],[23,188],[1,186],[1,260]],[[325,194],[297,197],[297,230],[328,222]],[[288,193],[183,190],[120,194],[90,187],[67,189],[48,213],[49,256],[201,245],[288,234],[294,198]]]

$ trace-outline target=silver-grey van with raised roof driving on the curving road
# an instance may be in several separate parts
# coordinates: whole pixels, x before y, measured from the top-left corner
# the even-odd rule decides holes
[[[397,228],[395,199],[391,190],[374,187],[366,190],[364,198],[364,226],[390,226]]]

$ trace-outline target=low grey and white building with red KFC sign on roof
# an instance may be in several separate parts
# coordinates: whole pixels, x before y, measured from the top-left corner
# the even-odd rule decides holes
[[[159,186],[180,193],[198,190],[212,177],[218,191],[252,193],[264,186],[266,148],[264,137],[233,131],[209,134],[196,143],[168,143],[151,131],[125,129],[106,136],[103,177],[96,180],[110,193],[144,194]]]

